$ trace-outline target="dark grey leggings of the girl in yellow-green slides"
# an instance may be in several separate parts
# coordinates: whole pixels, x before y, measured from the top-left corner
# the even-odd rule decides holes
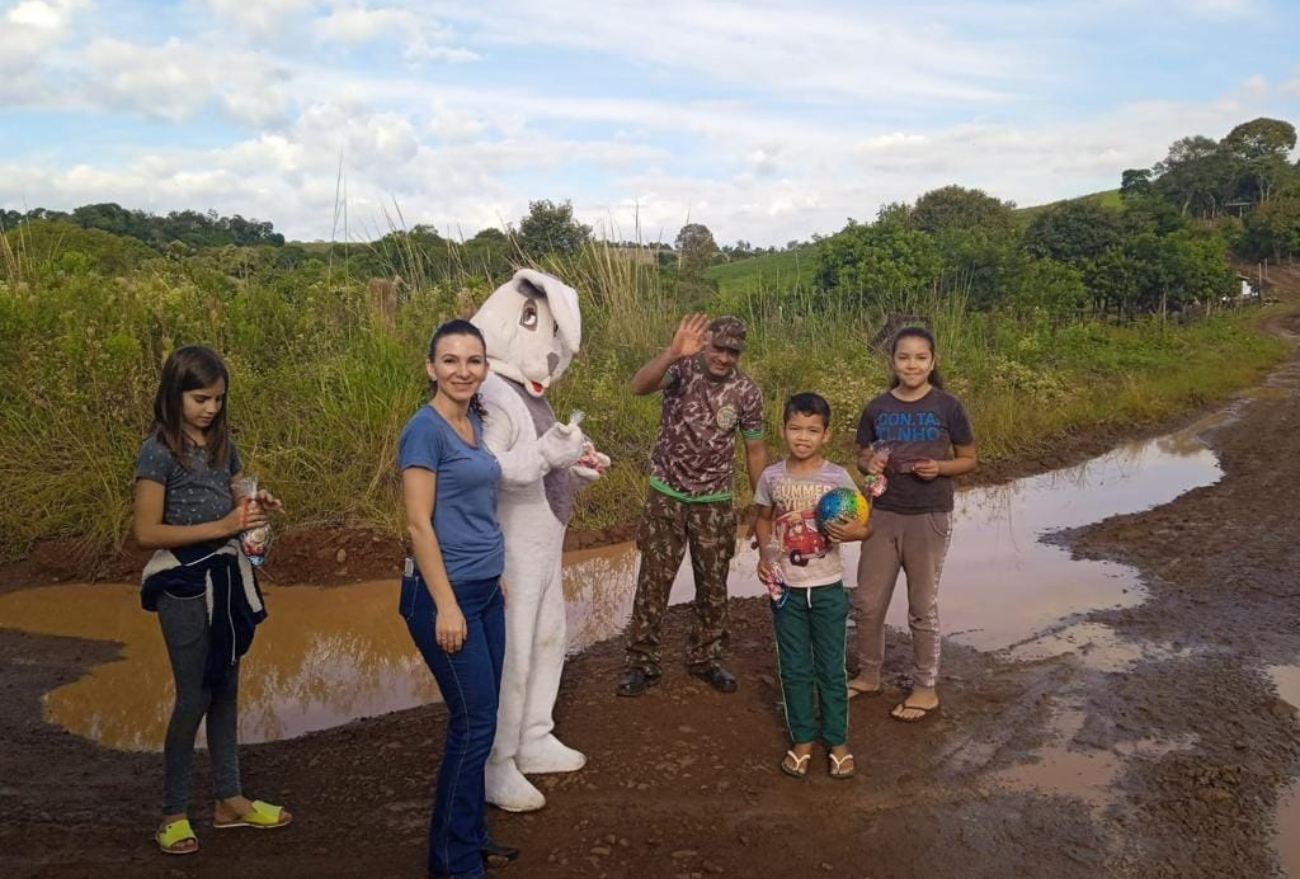
[[[203,687],[212,637],[203,596],[159,598],[159,623],[172,659],[176,679],[176,706],[162,745],[162,814],[178,815],[190,809],[190,767],[199,723],[208,719],[208,755],[212,759],[212,787],[217,800],[237,797],[239,788],[239,666],[212,689]]]

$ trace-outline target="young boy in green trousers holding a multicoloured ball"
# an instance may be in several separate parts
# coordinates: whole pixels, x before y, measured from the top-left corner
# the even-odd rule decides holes
[[[794,778],[807,775],[818,733],[815,687],[822,702],[822,739],[831,748],[831,778],[846,779],[854,774],[844,671],[849,598],[837,545],[866,540],[871,528],[829,523],[829,540],[818,531],[815,510],[822,495],[841,486],[857,488],[848,471],[822,456],[831,438],[831,406],[826,399],[820,394],[796,394],[786,400],[781,434],[789,458],[767,467],[754,490],[755,534],[763,550],[758,576],[774,593],[776,658],[793,742],[781,771]],[[768,549],[776,546],[779,553]],[[785,593],[779,601],[783,585]]]

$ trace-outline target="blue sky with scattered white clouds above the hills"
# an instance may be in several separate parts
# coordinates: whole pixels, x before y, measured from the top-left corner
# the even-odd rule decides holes
[[[0,207],[781,246],[1300,125],[1295,0],[0,0]]]

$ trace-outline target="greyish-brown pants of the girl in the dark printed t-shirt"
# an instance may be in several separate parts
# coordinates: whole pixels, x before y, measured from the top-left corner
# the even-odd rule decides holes
[[[875,533],[862,542],[858,588],[853,606],[858,618],[859,674],[880,679],[885,659],[885,611],[898,580],[907,575],[907,628],[911,629],[911,685],[932,688],[939,680],[939,577],[952,540],[952,514],[871,514]]]

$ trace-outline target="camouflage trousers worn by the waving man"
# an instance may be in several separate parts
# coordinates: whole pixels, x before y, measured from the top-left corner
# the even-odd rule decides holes
[[[696,627],[686,664],[719,662],[727,644],[727,571],[736,554],[736,507],[731,501],[688,503],[655,489],[646,493],[637,525],[637,597],[628,625],[627,666],[659,672],[659,629],[672,581],[690,546],[696,573]]]

